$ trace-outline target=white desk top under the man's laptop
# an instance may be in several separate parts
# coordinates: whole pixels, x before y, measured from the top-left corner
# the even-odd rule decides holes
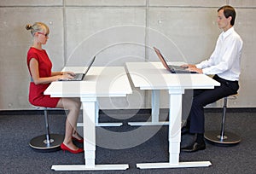
[[[141,90],[212,89],[220,85],[204,74],[170,73],[159,61],[125,64],[133,84]]]

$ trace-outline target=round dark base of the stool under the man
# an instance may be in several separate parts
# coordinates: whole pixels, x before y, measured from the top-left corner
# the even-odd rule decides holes
[[[207,131],[205,132],[205,139],[207,142],[211,142],[214,145],[219,146],[233,146],[241,142],[240,136],[237,136],[234,133],[225,132],[224,138],[220,138],[220,132],[219,131]]]

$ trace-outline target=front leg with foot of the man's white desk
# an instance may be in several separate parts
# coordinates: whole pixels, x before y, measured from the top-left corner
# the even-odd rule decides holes
[[[179,162],[183,92],[184,90],[169,90],[169,163],[137,164],[138,168],[180,168],[212,165],[210,161]]]

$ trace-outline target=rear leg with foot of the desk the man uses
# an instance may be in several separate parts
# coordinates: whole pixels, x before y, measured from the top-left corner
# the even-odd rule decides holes
[[[168,125],[166,121],[159,121],[160,113],[160,90],[151,92],[151,122],[129,122],[128,125]]]

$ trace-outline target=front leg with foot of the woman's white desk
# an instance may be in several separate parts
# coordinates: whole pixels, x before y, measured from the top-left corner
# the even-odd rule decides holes
[[[96,165],[96,98],[82,100],[84,121],[84,159],[85,165],[52,165],[55,171],[102,171],[126,170],[129,165]]]

